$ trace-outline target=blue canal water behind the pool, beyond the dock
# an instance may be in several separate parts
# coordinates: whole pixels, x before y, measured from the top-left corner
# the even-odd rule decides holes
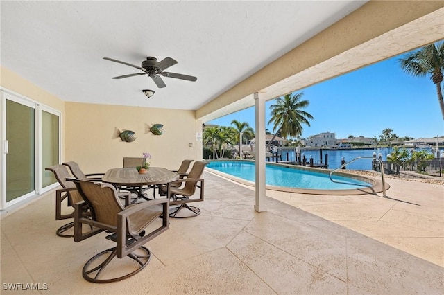
[[[407,148],[407,150],[411,150],[411,148]],[[430,147],[427,148],[414,148],[413,150],[419,151],[419,150],[427,150],[428,152],[434,152]],[[393,152],[393,148],[391,147],[378,147],[378,148],[371,148],[371,149],[355,149],[355,150],[323,150],[322,151],[322,163],[325,164],[325,155],[328,155],[328,168],[334,169],[341,166],[341,160],[342,158],[345,159],[345,162],[351,161],[352,159],[355,159],[357,157],[373,157],[373,153],[376,153],[377,157],[379,155],[382,156],[382,161],[387,160],[387,155]],[[315,164],[321,163],[320,160],[320,150],[300,150],[301,156],[307,158],[307,161],[310,161],[310,157],[313,158],[313,162]],[[296,161],[295,157],[295,147],[286,148],[282,147],[280,150],[280,154],[282,157],[282,161],[287,161],[287,154],[288,154],[288,161]],[[440,154],[444,154],[444,149],[440,147]],[[372,159],[359,159],[357,161],[354,161],[353,163],[350,163],[346,166],[346,169],[352,169],[352,170],[371,170],[372,169]]]

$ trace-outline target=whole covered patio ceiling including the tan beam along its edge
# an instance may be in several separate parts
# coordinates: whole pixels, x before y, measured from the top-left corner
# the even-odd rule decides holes
[[[1,66],[67,102],[203,122],[443,38],[441,1],[1,1]],[[157,88],[139,66],[172,57]],[[142,89],[153,89],[146,98]]]

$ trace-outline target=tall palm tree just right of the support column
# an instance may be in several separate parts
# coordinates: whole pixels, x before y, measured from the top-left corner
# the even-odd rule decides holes
[[[305,124],[310,126],[308,119],[313,119],[311,114],[306,111],[302,111],[305,107],[308,107],[308,100],[301,100],[303,93],[297,94],[287,94],[276,98],[276,103],[270,106],[271,109],[271,119],[268,124],[274,123],[273,132],[275,135],[267,145],[271,145],[276,137],[276,134],[287,138],[296,137],[302,135],[303,127],[301,125]]]

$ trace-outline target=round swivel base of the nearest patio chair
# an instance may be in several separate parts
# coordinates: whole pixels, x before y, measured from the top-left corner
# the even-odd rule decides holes
[[[101,251],[100,253],[97,253],[95,256],[93,256],[91,259],[89,259],[86,263],[85,266],[83,266],[83,271],[82,271],[82,275],[83,278],[85,278],[85,280],[87,280],[88,282],[92,282],[92,283],[112,283],[112,282],[117,282],[118,280],[123,280],[125,278],[129,278],[130,276],[134,276],[135,274],[137,274],[139,271],[141,271],[142,269],[144,269],[144,267],[146,267],[146,265],[148,265],[148,262],[150,262],[151,260],[151,252],[144,246],[139,247],[138,249],[142,250],[144,253],[143,254],[135,254],[130,253],[128,254],[127,257],[135,260],[135,262],[137,262],[137,269],[135,269],[135,271],[130,272],[129,274],[125,274],[123,276],[119,276],[119,277],[115,277],[115,278],[99,278],[99,276],[105,276],[104,274],[104,269],[107,265],[110,264],[111,260],[114,259],[117,256],[117,248],[113,247],[110,249],[107,249],[105,251]],[[92,262],[94,262],[94,260],[96,260],[97,258],[100,258],[101,256],[103,256],[104,254],[110,252],[110,255],[103,260],[103,262],[101,262],[99,265],[97,265],[96,267],[93,267],[92,269],[88,269],[89,265],[92,264]]]

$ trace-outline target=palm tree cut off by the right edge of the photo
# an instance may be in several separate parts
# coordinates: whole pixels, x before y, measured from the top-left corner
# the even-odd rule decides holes
[[[438,102],[444,119],[444,100],[441,90],[441,82],[444,79],[444,42],[422,47],[418,51],[409,53],[406,58],[401,58],[399,62],[406,73],[415,77],[430,75],[430,79],[436,84]]]

